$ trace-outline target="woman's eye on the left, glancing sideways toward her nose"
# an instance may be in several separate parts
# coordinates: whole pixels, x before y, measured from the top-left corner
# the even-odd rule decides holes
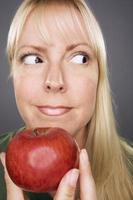
[[[21,60],[23,61],[24,64],[26,65],[35,65],[38,63],[43,63],[43,60],[34,54],[28,54],[28,55],[24,55]]]

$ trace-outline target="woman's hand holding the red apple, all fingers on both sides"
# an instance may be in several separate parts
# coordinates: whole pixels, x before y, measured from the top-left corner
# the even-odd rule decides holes
[[[23,191],[10,179],[5,166],[5,153],[0,155],[5,170],[5,182],[7,187],[7,200],[25,200]],[[97,200],[94,179],[91,173],[86,150],[81,150],[79,170],[72,169],[62,178],[54,200],[74,200],[76,185],[80,171],[80,199]]]

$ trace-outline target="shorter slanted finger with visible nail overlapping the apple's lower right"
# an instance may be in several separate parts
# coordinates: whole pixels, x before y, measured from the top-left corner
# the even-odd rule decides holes
[[[72,169],[62,178],[54,200],[74,200],[79,170]]]

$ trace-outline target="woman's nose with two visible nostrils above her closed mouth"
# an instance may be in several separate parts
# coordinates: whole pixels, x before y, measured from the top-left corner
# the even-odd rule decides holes
[[[46,92],[64,93],[66,91],[66,84],[63,77],[63,72],[59,69],[49,69],[44,85]]]

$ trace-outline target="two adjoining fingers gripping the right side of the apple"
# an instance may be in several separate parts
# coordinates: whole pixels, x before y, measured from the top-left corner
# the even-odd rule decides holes
[[[59,184],[54,200],[75,199],[75,191],[79,173],[80,199],[97,200],[95,182],[91,173],[89,159],[85,149],[82,149],[80,152],[79,170],[72,169],[65,174]]]

